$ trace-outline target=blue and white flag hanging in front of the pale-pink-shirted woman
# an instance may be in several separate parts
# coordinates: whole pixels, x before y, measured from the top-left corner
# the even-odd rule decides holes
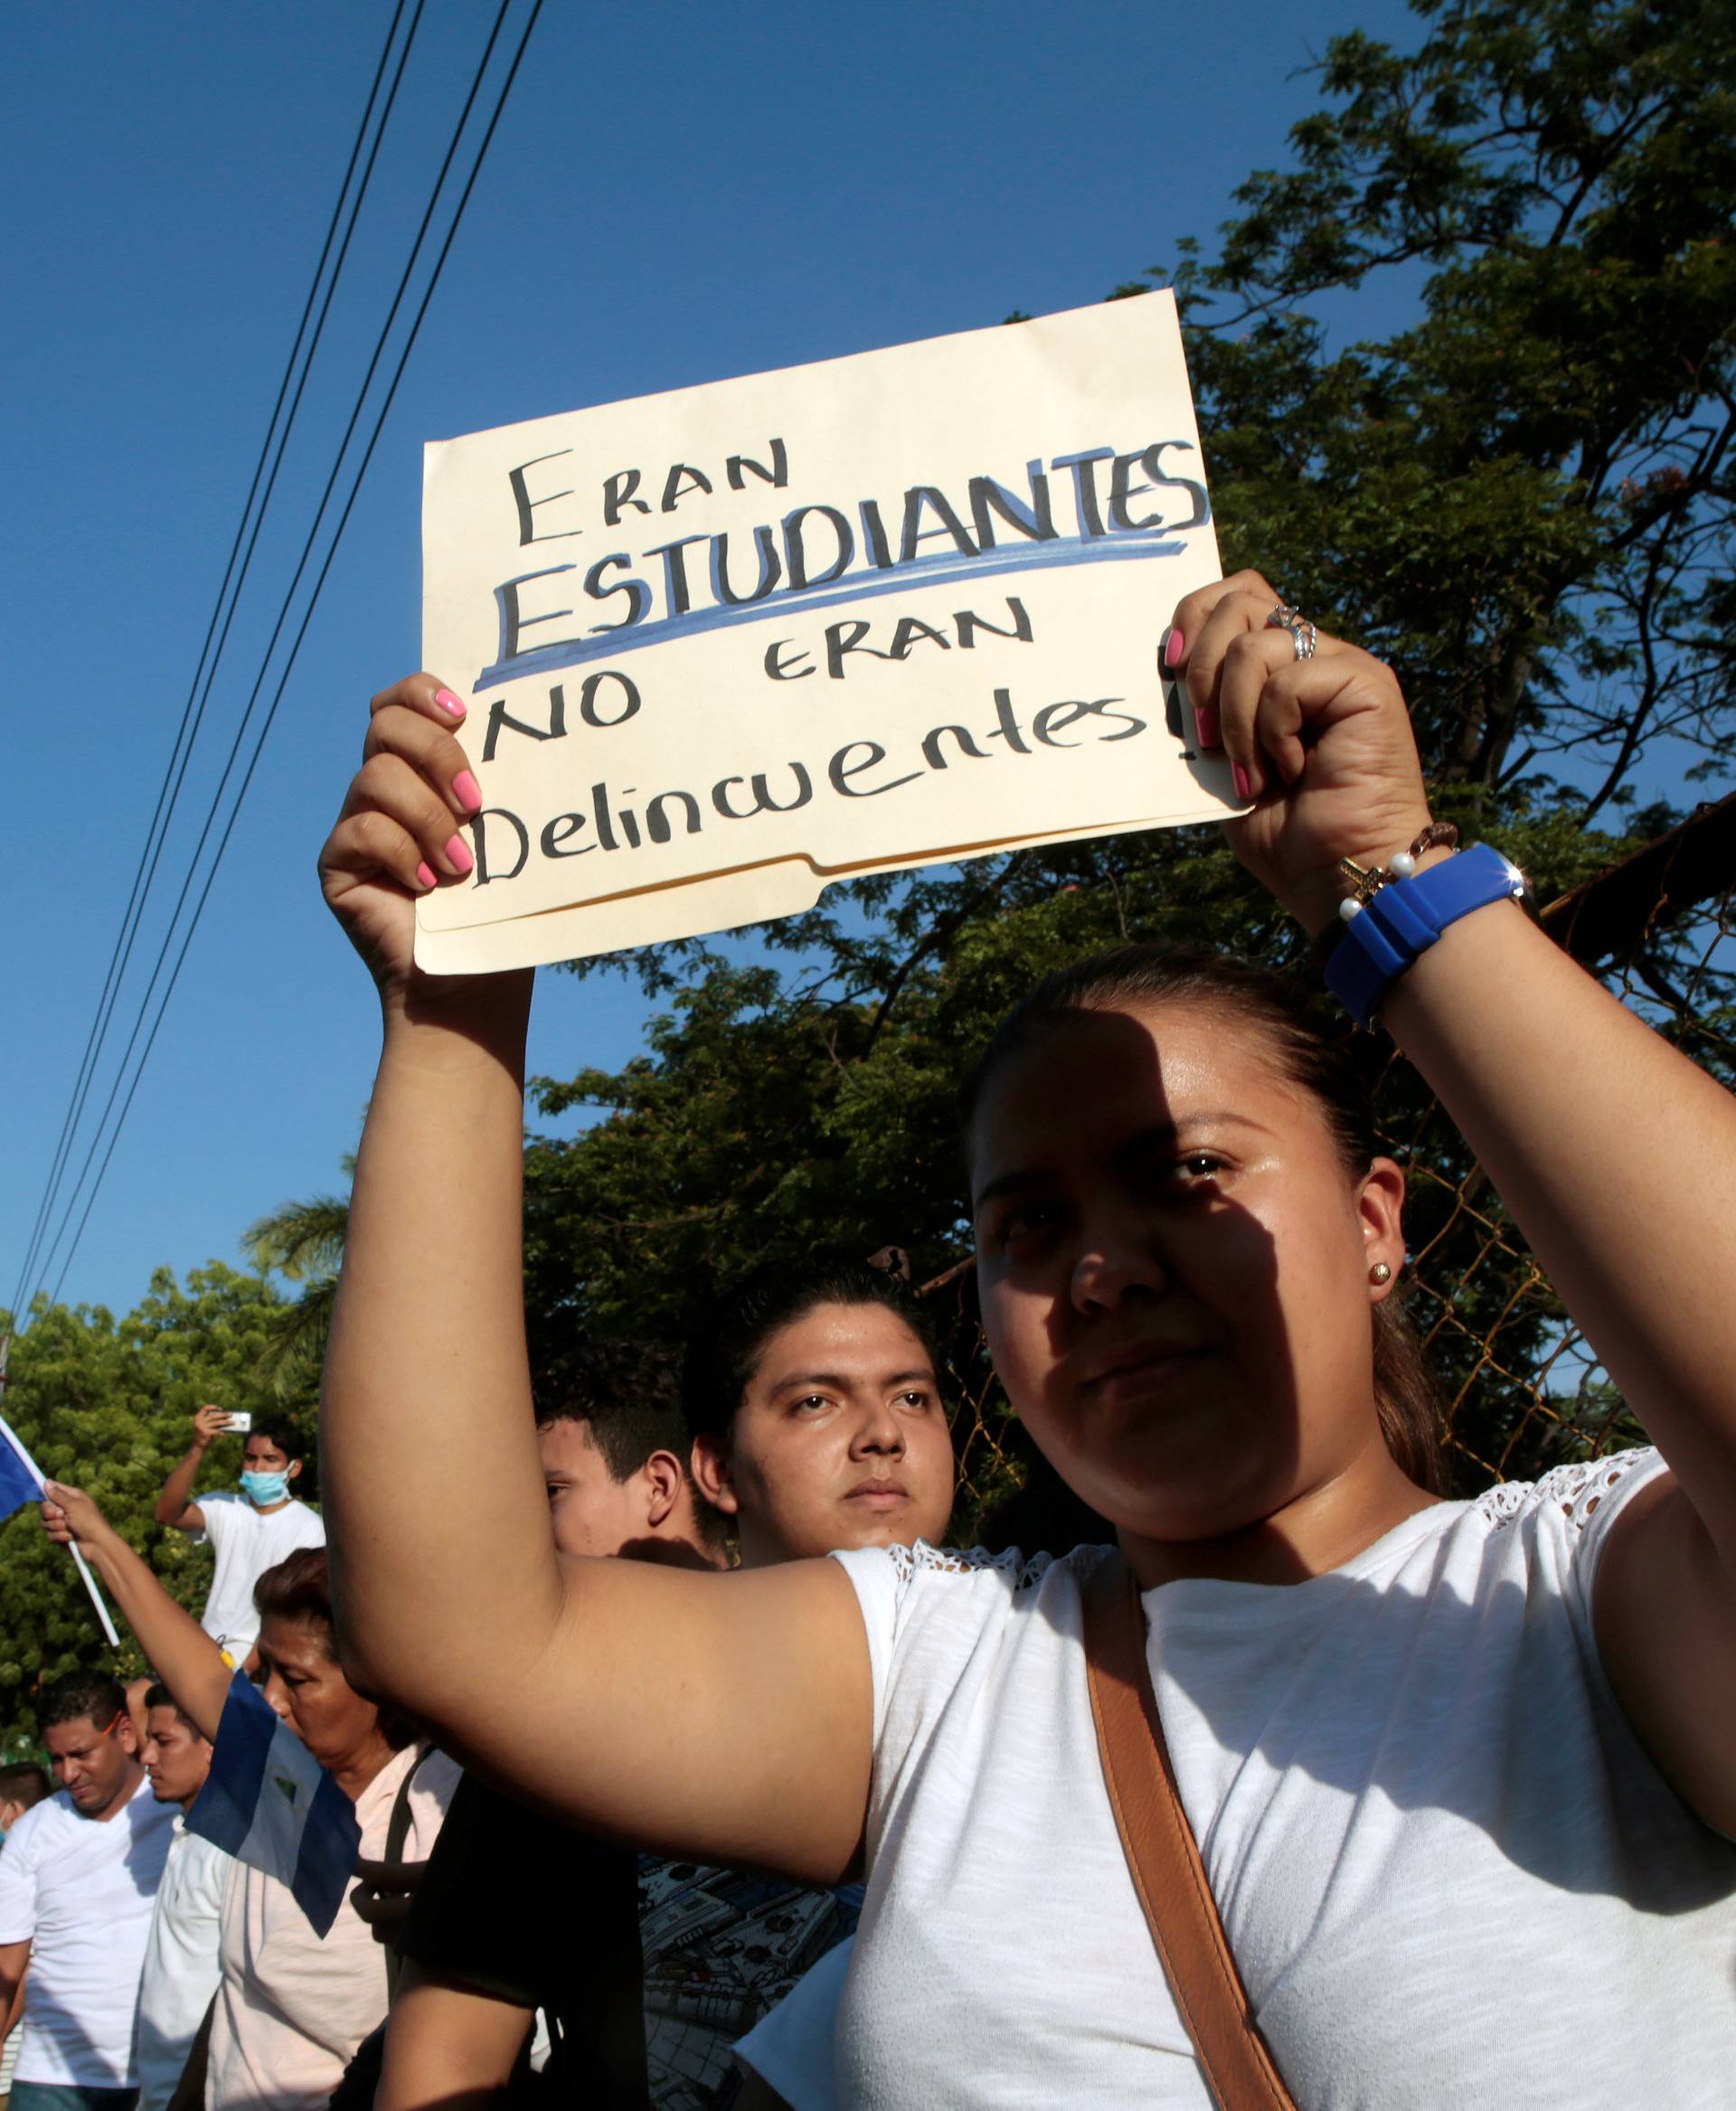
[[[245,1672],[230,1680],[186,1828],[287,1883],[313,1932],[329,1934],[361,1853],[355,1803]]]

